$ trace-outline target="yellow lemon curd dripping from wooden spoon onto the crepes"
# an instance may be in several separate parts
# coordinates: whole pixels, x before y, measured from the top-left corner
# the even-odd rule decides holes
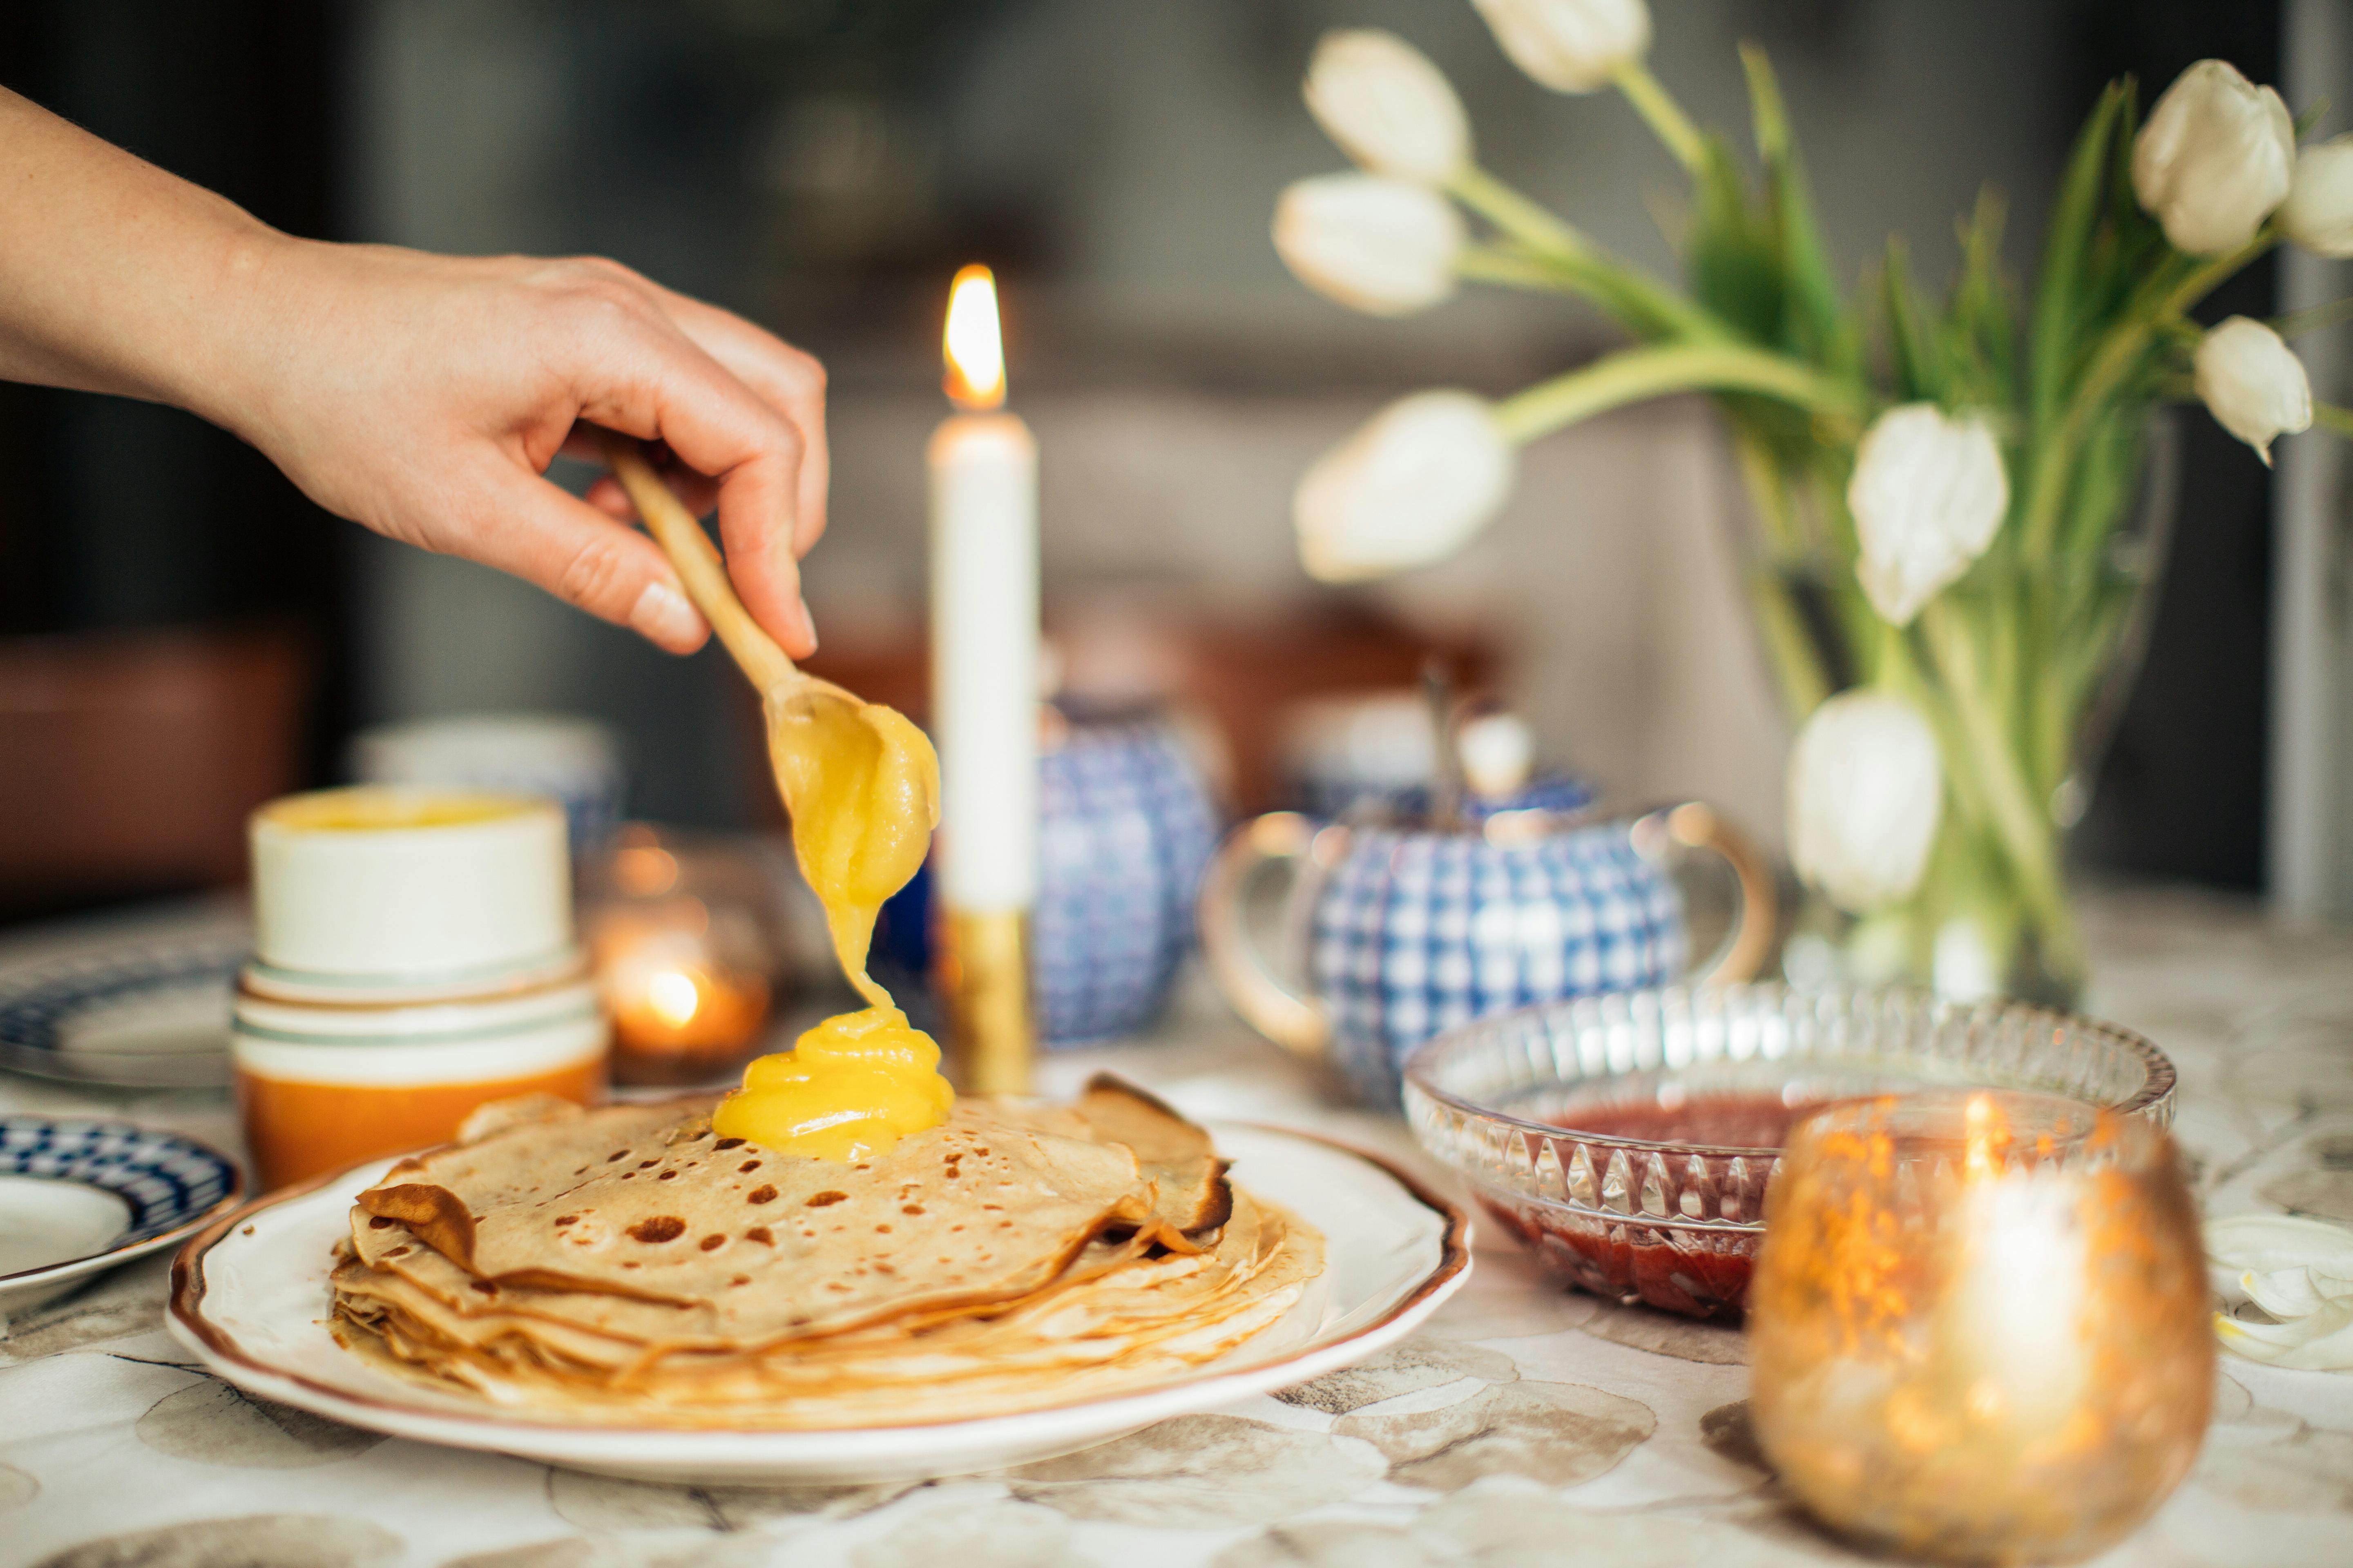
[[[875,914],[922,865],[939,825],[939,755],[906,715],[824,684],[769,701],[767,750],[800,875],[866,1006],[751,1063],[711,1131],[779,1154],[868,1159],[939,1126],[955,1103],[939,1046],[866,973]]]

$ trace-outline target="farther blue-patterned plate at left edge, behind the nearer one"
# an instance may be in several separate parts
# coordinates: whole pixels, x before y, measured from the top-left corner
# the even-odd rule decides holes
[[[0,1067],[71,1084],[228,1081],[242,931],[134,940],[0,973]]]

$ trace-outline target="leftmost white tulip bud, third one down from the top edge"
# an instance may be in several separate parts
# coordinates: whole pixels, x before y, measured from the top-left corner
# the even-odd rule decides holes
[[[1318,294],[1412,315],[1454,294],[1464,221],[1447,197],[1377,174],[1322,174],[1275,202],[1275,249]]]

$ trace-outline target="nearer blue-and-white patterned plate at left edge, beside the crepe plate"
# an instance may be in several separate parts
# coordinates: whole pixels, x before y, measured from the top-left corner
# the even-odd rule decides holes
[[[0,1117],[0,1319],[172,1246],[242,1194],[226,1154],[179,1133]]]

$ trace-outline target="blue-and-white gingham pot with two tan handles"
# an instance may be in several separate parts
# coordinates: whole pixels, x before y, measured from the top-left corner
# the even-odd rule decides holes
[[[1219,990],[1261,1034],[1327,1058],[1369,1105],[1398,1105],[1405,1053],[1487,1013],[1687,978],[1678,860],[1722,856],[1739,905],[1706,980],[1772,952],[1774,879],[1711,806],[1609,816],[1555,780],[1431,827],[1412,799],[1320,823],[1275,811],[1238,827],[1202,879],[1200,938]],[[1282,929],[1306,987],[1280,980],[1245,926],[1245,891],[1299,865]]]

